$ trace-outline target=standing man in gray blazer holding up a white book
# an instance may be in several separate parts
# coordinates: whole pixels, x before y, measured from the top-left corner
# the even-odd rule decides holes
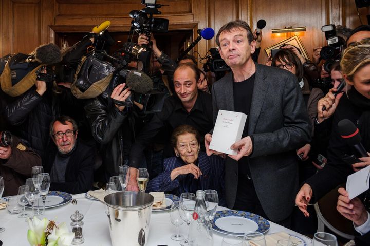
[[[226,201],[230,208],[259,214],[290,227],[298,191],[295,149],[310,141],[305,104],[293,74],[254,63],[255,41],[249,25],[229,22],[218,31],[221,58],[231,67],[212,86],[213,122],[218,110],[247,115],[242,139],[226,160]],[[212,135],[205,136],[207,154]]]

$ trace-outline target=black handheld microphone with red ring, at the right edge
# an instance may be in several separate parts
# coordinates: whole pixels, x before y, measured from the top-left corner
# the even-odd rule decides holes
[[[354,146],[361,157],[369,156],[366,149],[361,144],[360,131],[352,121],[348,119],[341,120],[338,122],[338,129],[341,137],[348,145]]]

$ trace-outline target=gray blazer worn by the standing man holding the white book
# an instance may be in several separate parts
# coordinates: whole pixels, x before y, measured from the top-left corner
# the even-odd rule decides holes
[[[298,192],[297,148],[310,141],[311,127],[294,74],[256,65],[248,135],[253,135],[250,172],[258,199],[272,221],[287,218]],[[212,86],[213,123],[219,109],[234,111],[233,73]],[[236,102],[237,103],[237,102]],[[226,160],[226,202],[232,208],[238,183],[238,162]]]

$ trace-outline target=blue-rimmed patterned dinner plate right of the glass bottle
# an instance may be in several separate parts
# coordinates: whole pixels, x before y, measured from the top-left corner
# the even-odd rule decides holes
[[[265,233],[270,229],[270,223],[263,217],[246,211],[217,211],[212,229],[227,235],[244,236],[246,232]]]

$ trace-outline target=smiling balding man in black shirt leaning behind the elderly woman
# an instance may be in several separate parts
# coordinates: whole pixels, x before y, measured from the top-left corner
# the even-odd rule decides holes
[[[136,138],[130,152],[130,167],[141,167],[145,146],[154,142],[157,134],[163,129],[164,136],[155,142],[169,144],[173,129],[183,124],[194,126],[202,136],[212,129],[212,97],[197,89],[199,78],[200,71],[192,63],[181,64],[176,68],[176,94],[166,99],[162,111],[153,116]],[[201,149],[205,149],[204,145]],[[136,172],[131,174],[128,190],[137,190]]]

